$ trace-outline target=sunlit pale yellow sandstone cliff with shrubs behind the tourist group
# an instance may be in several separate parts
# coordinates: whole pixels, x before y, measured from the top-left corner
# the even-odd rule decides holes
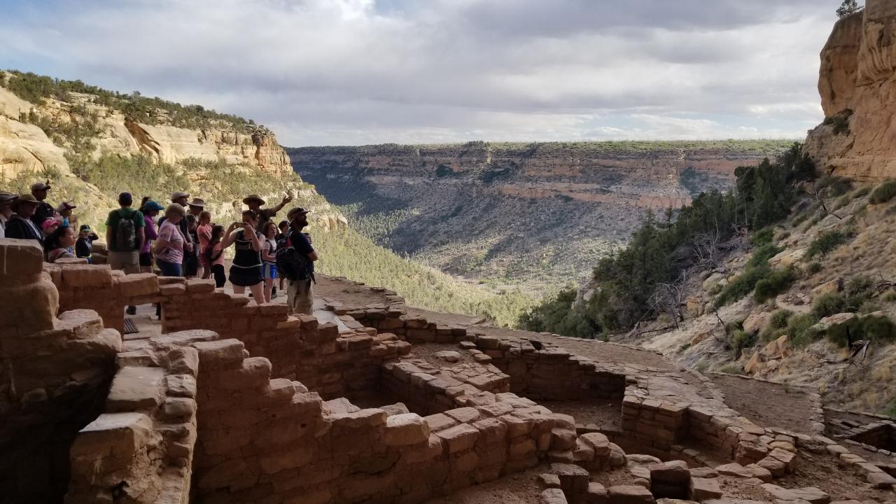
[[[148,161],[141,173],[131,173],[134,165],[123,160],[138,156]],[[52,203],[73,201],[80,222],[100,228],[125,190],[163,204],[172,190],[185,190],[204,198],[220,222],[237,217],[248,193],[272,204],[289,193],[313,210],[323,229],[346,224],[297,177],[277,137],[252,121],[136,93],[0,73],[0,187],[24,192],[42,178],[55,183]]]

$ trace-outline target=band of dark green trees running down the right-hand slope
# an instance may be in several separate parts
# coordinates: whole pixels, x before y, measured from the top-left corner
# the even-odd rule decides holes
[[[813,173],[813,164],[798,143],[773,162],[766,159],[738,168],[737,185],[728,193],[703,193],[676,216],[670,212],[658,220],[650,214],[625,249],[594,268],[588,300],[573,304],[568,302],[569,291],[561,292],[521,317],[521,325],[533,331],[594,337],[658,316],[669,305],[680,304],[675,287],[680,274],[699,262],[711,265],[720,244],[728,239],[786,217],[794,202],[794,184]],[[760,251],[740,280],[719,295],[717,306],[742,298],[757,284],[765,297],[792,281],[788,272],[768,267],[767,259],[776,253],[773,246]]]

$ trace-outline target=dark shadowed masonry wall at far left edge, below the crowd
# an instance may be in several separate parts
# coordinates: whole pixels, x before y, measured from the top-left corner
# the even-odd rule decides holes
[[[0,239],[0,500],[65,494],[75,434],[102,411],[121,335],[95,311],[56,317],[59,294],[30,240]]]

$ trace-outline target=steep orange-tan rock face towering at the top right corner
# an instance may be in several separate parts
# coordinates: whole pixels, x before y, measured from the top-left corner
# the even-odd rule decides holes
[[[896,4],[868,0],[834,25],[818,91],[827,117],[809,132],[816,166],[861,180],[896,176]]]

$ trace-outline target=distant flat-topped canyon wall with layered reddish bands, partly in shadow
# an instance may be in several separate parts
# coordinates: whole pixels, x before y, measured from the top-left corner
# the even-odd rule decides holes
[[[579,283],[649,212],[726,190],[787,141],[485,143],[288,149],[361,232],[497,288]]]

